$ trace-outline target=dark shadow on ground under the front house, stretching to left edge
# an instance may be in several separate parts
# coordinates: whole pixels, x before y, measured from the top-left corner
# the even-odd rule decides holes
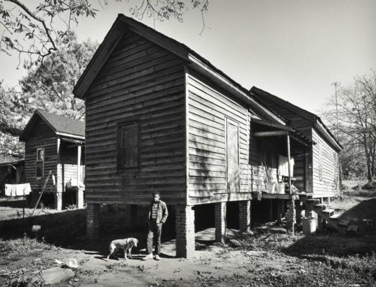
[[[37,237],[56,247],[85,249],[104,255],[108,253],[111,240],[134,237],[139,239],[139,245],[134,248],[134,252],[139,252],[146,247],[147,227],[130,229],[124,225],[125,216],[123,212],[102,213],[100,239],[94,242],[89,242],[86,238],[86,209],[0,221],[0,238],[10,240],[24,236]],[[39,233],[32,232],[33,225],[40,225]],[[175,230],[170,225],[166,224],[162,230],[162,243],[175,238]]]

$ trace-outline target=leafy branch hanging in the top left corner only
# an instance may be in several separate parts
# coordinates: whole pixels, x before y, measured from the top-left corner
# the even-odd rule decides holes
[[[57,51],[56,38],[70,40],[72,23],[81,16],[95,17],[97,9],[87,0],[45,0],[36,7],[18,0],[0,1],[0,24],[3,26],[0,51],[10,50],[28,54],[31,59],[43,60]],[[56,18],[63,28],[54,28]],[[35,56],[35,57],[33,57]]]

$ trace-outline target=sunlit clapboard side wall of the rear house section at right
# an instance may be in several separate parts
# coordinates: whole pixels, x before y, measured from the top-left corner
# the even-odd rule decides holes
[[[313,145],[313,192],[336,193],[339,191],[338,153],[318,131],[312,130]],[[321,165],[321,167],[320,167]],[[322,169],[322,176],[320,176]]]

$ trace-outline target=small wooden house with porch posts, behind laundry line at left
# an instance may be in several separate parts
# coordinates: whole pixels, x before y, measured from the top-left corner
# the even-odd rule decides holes
[[[38,195],[51,171],[45,200],[59,210],[68,204],[82,208],[85,122],[36,110],[19,140],[25,142],[25,181],[33,195]]]

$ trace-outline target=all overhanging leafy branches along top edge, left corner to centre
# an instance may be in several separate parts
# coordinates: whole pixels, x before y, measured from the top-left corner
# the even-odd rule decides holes
[[[121,2],[121,0],[116,0]],[[184,11],[191,6],[207,10],[209,0],[131,0],[130,13],[142,19],[145,15],[155,20],[175,18],[183,20]],[[81,17],[95,17],[108,0],[40,0],[33,6],[29,1],[0,0],[0,52],[16,51],[19,63],[23,54],[29,60],[42,60],[57,51],[56,39],[65,43],[72,40],[72,28]],[[204,18],[203,18],[204,19]],[[205,27],[205,22],[203,22]]]

